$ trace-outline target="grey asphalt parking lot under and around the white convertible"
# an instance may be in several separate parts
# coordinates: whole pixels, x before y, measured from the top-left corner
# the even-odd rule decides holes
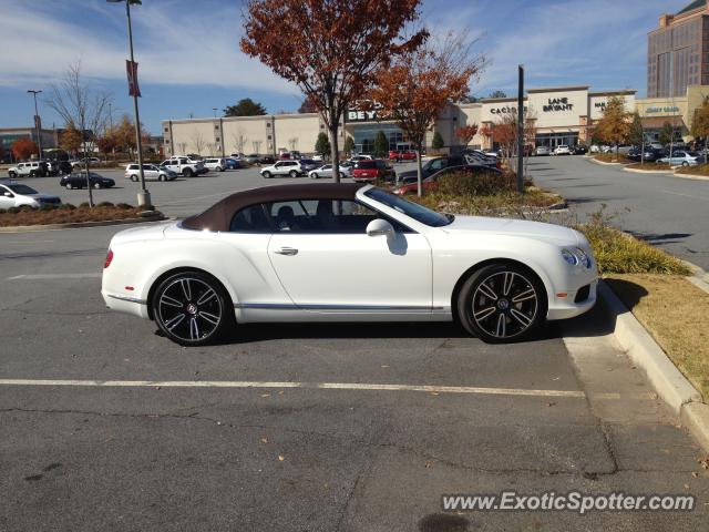
[[[86,195],[52,181],[31,185]],[[184,216],[286,181],[247,170],[150,190]],[[97,200],[132,203],[136,184],[116,182]],[[101,265],[121,228],[0,235],[0,530],[706,526],[705,456],[600,313],[506,346],[445,324],[322,324],[182,348],[105,309]],[[697,510],[441,510],[442,494],[502,490],[689,493]]]

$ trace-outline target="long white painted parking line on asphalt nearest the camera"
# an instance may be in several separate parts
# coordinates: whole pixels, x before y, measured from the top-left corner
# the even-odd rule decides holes
[[[0,386],[69,386],[96,388],[302,388],[326,390],[424,391],[438,393],[480,393],[492,396],[569,397],[583,399],[583,391],[481,388],[472,386],[376,385],[362,382],[268,382],[247,380],[34,380],[0,379]],[[608,397],[608,399],[615,398]]]

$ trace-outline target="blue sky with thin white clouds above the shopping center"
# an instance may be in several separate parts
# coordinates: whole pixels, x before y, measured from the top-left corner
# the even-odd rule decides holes
[[[433,34],[454,30],[477,39],[489,66],[475,95],[512,93],[516,64],[527,86],[590,84],[645,94],[646,34],[660,13],[689,0],[424,0]],[[253,98],[268,112],[295,111],[298,89],[238,50],[239,0],[143,0],[133,9],[140,63],[141,119],[212,116],[213,108]],[[277,24],[274,27],[277,30]],[[49,89],[81,60],[88,81],[114,93],[114,114],[131,112],[125,82],[125,9],[105,0],[0,0],[0,127],[29,125],[28,89]],[[59,117],[41,101],[44,126]]]

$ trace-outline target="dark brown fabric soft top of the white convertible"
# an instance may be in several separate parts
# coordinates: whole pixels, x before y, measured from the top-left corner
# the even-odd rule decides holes
[[[274,185],[237,192],[215,203],[204,213],[186,218],[182,225],[188,229],[229,231],[237,211],[249,205],[291,200],[352,200],[361,183],[315,183],[298,185]]]

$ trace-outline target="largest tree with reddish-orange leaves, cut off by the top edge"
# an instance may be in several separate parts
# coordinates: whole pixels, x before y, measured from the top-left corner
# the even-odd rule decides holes
[[[338,131],[347,109],[371,85],[374,73],[421,45],[420,0],[249,0],[242,51],[291,81],[315,105],[330,134],[339,183]],[[278,21],[278,31],[274,31]]]

